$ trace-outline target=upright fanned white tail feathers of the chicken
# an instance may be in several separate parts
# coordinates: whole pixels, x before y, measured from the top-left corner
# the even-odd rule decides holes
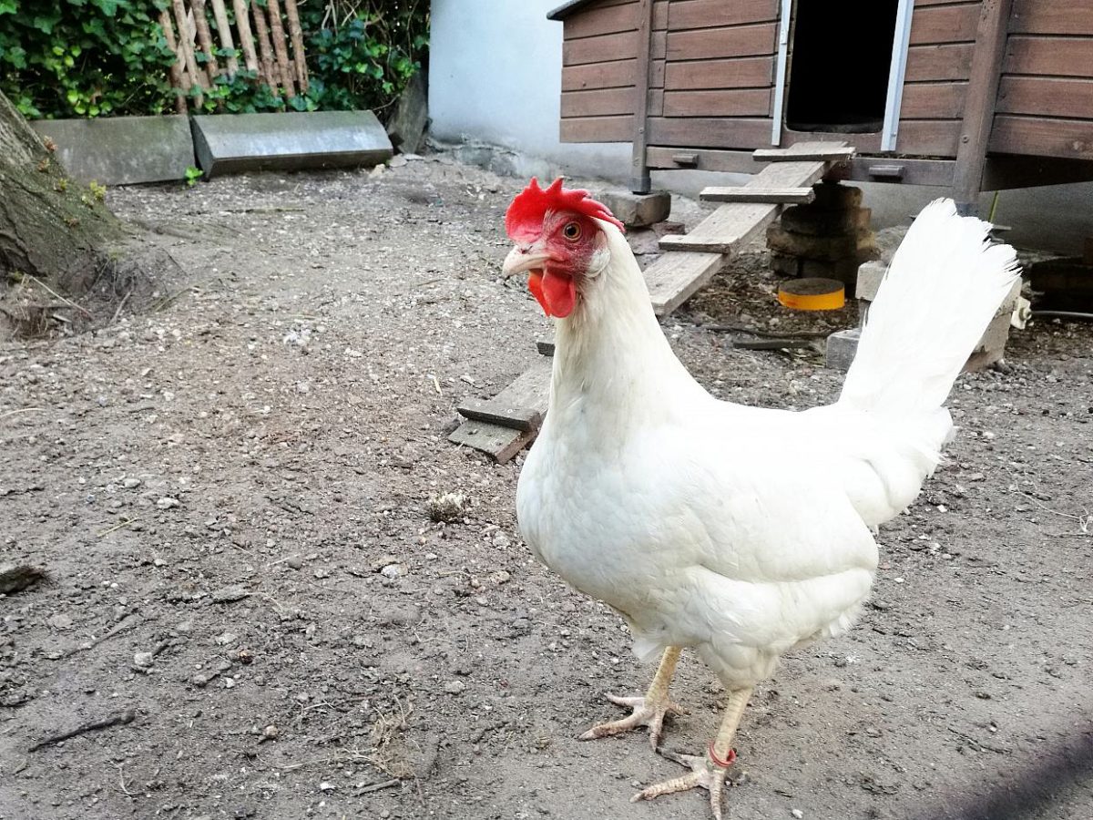
[[[941,407],[976,342],[1020,276],[990,225],[961,216],[951,199],[922,209],[869,308],[839,397],[860,410]]]

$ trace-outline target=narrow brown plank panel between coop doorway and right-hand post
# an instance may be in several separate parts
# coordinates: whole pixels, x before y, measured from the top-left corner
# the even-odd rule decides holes
[[[896,151],[955,156],[979,0],[915,0]]]

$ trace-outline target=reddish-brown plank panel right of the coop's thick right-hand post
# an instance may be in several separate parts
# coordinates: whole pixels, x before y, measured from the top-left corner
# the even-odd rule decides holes
[[[988,149],[1093,160],[1093,3],[1014,0]]]

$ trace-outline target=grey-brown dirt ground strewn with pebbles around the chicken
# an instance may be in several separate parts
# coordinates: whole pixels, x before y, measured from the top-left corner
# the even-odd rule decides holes
[[[522,456],[446,440],[551,332],[500,273],[521,184],[431,157],[110,191],[185,279],[0,347],[2,560],[50,576],[0,597],[2,820],[708,816],[630,803],[681,772],[645,735],[576,739],[653,670],[520,541]],[[763,262],[666,332],[721,398],[832,400],[816,351],[710,329],[854,324],[788,316]],[[1091,816],[1093,326],[1034,320],[951,406],[862,621],[756,691],[729,817]],[[724,692],[686,653],[673,691],[666,748],[698,750]]]

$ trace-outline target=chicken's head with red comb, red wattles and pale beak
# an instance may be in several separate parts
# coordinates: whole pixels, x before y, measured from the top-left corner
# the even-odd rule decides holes
[[[505,213],[505,231],[516,243],[505,274],[528,271],[528,289],[546,315],[565,318],[588,279],[607,266],[604,223],[624,230],[588,191],[563,188],[561,177],[540,188],[532,177]]]

